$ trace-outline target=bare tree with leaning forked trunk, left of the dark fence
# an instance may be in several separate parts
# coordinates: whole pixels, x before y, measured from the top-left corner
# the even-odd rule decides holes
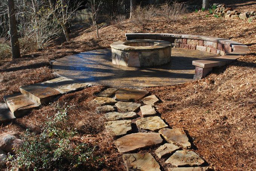
[[[72,19],[75,11],[79,8],[81,3],[73,3],[75,4],[74,8],[71,8],[70,0],[57,0],[55,3],[52,0],[49,0],[49,3],[53,16],[56,18],[63,29],[66,41],[70,41],[69,30],[67,26],[69,25],[69,21]]]

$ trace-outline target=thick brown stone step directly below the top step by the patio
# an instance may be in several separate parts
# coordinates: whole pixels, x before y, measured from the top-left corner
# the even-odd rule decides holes
[[[47,104],[60,95],[59,91],[42,83],[20,87],[20,92],[38,104]]]

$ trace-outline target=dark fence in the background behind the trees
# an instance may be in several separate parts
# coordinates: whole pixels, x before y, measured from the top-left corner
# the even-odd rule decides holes
[[[168,0],[138,0],[137,3],[142,6],[156,6],[160,7],[162,5],[166,5]],[[128,17],[130,15],[130,0],[117,0],[116,3],[113,3],[108,6],[102,7],[101,11],[98,13],[98,18],[101,21],[109,20],[116,15],[126,15]],[[91,13],[90,6],[85,7],[85,9],[81,9],[76,11],[75,17],[72,23],[84,23],[84,22],[92,22],[93,17]]]

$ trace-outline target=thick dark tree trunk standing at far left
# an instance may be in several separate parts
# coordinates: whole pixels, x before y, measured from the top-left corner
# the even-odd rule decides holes
[[[15,18],[14,0],[8,0],[8,17],[11,35],[12,59],[20,58],[20,44],[18,40],[18,32]]]

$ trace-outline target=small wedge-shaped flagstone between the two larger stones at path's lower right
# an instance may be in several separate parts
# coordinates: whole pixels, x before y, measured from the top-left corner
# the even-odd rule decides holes
[[[178,147],[177,145],[165,143],[164,145],[161,145],[159,148],[157,148],[157,150],[155,150],[155,154],[157,154],[157,157],[161,159],[162,157],[165,157],[168,154],[172,154],[179,149],[180,147]]]

